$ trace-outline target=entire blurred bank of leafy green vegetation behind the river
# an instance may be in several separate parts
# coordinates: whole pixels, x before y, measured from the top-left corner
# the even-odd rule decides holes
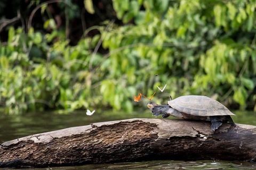
[[[0,106],[132,112],[182,95],[256,111],[255,0],[3,0]],[[158,76],[155,76],[158,74]],[[163,88],[164,92],[156,86]]]

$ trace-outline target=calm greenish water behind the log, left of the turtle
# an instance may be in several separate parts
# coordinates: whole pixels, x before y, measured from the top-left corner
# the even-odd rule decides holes
[[[135,117],[155,118],[155,116],[151,116],[150,112],[120,113],[108,111],[100,113],[97,111],[92,116],[87,116],[86,111],[75,111],[71,114],[41,112],[4,115],[0,113],[0,143],[36,133]]]

